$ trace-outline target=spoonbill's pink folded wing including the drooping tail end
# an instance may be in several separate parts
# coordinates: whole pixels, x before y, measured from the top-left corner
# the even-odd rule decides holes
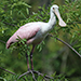
[[[37,24],[26,24],[22,26],[6,42],[6,49],[10,48],[12,42],[17,42],[18,37],[21,39],[30,39],[36,36],[40,30],[40,26]]]

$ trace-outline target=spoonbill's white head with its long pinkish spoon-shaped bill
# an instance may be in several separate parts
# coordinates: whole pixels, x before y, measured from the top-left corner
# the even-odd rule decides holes
[[[66,23],[63,21],[63,18],[60,17],[59,11],[58,11],[58,5],[54,4],[51,6],[51,11],[57,16],[58,21],[59,21],[59,26],[65,27]]]

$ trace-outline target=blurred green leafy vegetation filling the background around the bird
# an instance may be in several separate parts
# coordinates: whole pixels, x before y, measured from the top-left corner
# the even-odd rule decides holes
[[[14,48],[6,50],[5,42],[26,23],[48,22],[50,8],[55,3],[59,5],[59,12],[67,27],[59,27],[56,24],[51,33],[68,42],[81,54],[80,0],[60,0],[59,2],[58,0],[44,0],[44,2],[41,0],[0,0],[0,67],[17,76],[27,70],[25,55]],[[81,58],[56,39],[46,37],[43,42],[36,48],[33,53],[35,69],[53,76],[54,81],[81,81]],[[29,48],[31,49],[31,45]],[[2,81],[13,81],[17,76],[0,69]],[[38,81],[41,81],[40,77]]]

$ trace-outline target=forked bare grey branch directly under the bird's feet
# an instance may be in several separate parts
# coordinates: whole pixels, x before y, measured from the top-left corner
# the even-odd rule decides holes
[[[50,77],[50,76],[43,75],[43,73],[41,73],[41,72],[39,72],[39,71],[36,71],[36,70],[30,70],[30,69],[29,69],[27,72],[21,75],[17,79],[21,79],[22,77],[24,77],[24,76],[26,76],[26,75],[28,75],[28,73],[31,73],[31,75],[32,75],[32,79],[33,79],[35,81],[37,81],[37,80],[36,80],[36,77],[35,77],[36,73],[37,73],[38,76],[43,77],[43,79],[52,79],[52,80],[53,80],[53,78]]]

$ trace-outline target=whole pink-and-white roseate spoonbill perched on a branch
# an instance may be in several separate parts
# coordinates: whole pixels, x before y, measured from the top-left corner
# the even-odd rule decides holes
[[[51,6],[50,10],[50,21],[48,23],[43,22],[33,22],[28,23],[22,26],[6,42],[6,49],[10,48],[10,45],[14,42],[17,42],[18,37],[21,39],[27,39],[27,44],[32,44],[32,50],[30,53],[30,62],[31,62],[31,69],[33,69],[32,66],[32,53],[35,50],[35,46],[39,44],[49,33],[49,31],[55,26],[56,24],[56,17],[57,16],[59,21],[59,26],[64,27],[66,26],[66,23],[62,19],[60,14],[58,12],[58,5],[54,4]],[[18,36],[18,37],[17,37]],[[26,57],[28,55],[26,54]],[[29,69],[29,63],[27,58],[27,65]]]

